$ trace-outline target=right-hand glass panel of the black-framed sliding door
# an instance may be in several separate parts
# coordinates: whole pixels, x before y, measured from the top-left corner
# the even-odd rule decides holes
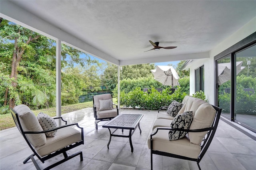
[[[256,45],[234,53],[234,119],[256,129]]]

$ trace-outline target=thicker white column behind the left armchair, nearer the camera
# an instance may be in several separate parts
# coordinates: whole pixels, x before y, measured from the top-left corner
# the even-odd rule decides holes
[[[56,41],[56,117],[61,117],[61,41]],[[58,125],[61,126],[59,119]]]

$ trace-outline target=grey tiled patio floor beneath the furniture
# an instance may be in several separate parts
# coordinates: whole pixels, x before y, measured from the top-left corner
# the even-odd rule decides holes
[[[105,122],[94,128],[92,108],[82,109],[63,115],[68,123],[78,123],[84,128],[85,144],[69,152],[83,151],[84,160],[79,156],[53,168],[56,170],[148,170],[150,169],[150,150],[147,139],[157,111],[125,110],[120,113],[142,113],[140,121],[142,134],[137,128],[132,136],[134,152],[131,153],[128,138],[112,137],[109,150],[107,143],[109,132],[102,128]],[[121,132],[121,131],[119,131]],[[125,133],[128,131],[125,130]],[[16,127],[0,131],[0,170],[34,170],[32,161],[23,164],[23,160],[32,154]],[[56,156],[45,164],[52,164],[62,156]],[[153,155],[154,170],[198,170],[196,162]],[[36,159],[37,162],[40,162]],[[256,141],[220,120],[215,137],[200,162],[202,170],[255,170]]]

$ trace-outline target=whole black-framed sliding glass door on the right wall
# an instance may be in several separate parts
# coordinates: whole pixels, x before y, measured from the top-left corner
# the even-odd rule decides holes
[[[222,115],[256,132],[256,45],[217,60],[217,101]]]

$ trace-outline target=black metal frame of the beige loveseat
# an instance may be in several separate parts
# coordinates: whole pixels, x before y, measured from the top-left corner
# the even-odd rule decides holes
[[[212,126],[210,128],[203,128],[203,129],[193,129],[193,130],[189,130],[189,129],[179,129],[179,128],[168,128],[168,127],[157,127],[156,132],[152,132],[152,134],[150,134],[150,159],[151,159],[151,170],[153,169],[153,154],[157,154],[157,155],[162,155],[162,156],[168,156],[168,157],[173,157],[173,158],[179,158],[179,159],[185,159],[185,160],[192,160],[192,161],[196,161],[199,170],[201,170],[200,166],[199,166],[199,162],[202,160],[204,154],[206,153],[207,149],[209,148],[212,139],[214,137],[214,134],[216,132],[216,129],[218,127],[218,123],[220,120],[220,114],[222,109],[219,107],[216,107],[214,105],[212,105],[212,107],[214,107],[214,109],[216,110],[216,115],[214,118],[214,121],[212,123]],[[157,134],[158,130],[180,130],[180,131],[185,131],[185,132],[205,132],[208,131],[207,134],[204,136],[204,139],[201,143],[201,152],[198,156],[197,159],[195,158],[189,158],[186,156],[180,156],[177,154],[171,154],[168,152],[162,152],[162,151],[158,151],[158,150],[153,150],[153,142],[154,140],[152,139],[152,136],[154,136],[155,134]]]

